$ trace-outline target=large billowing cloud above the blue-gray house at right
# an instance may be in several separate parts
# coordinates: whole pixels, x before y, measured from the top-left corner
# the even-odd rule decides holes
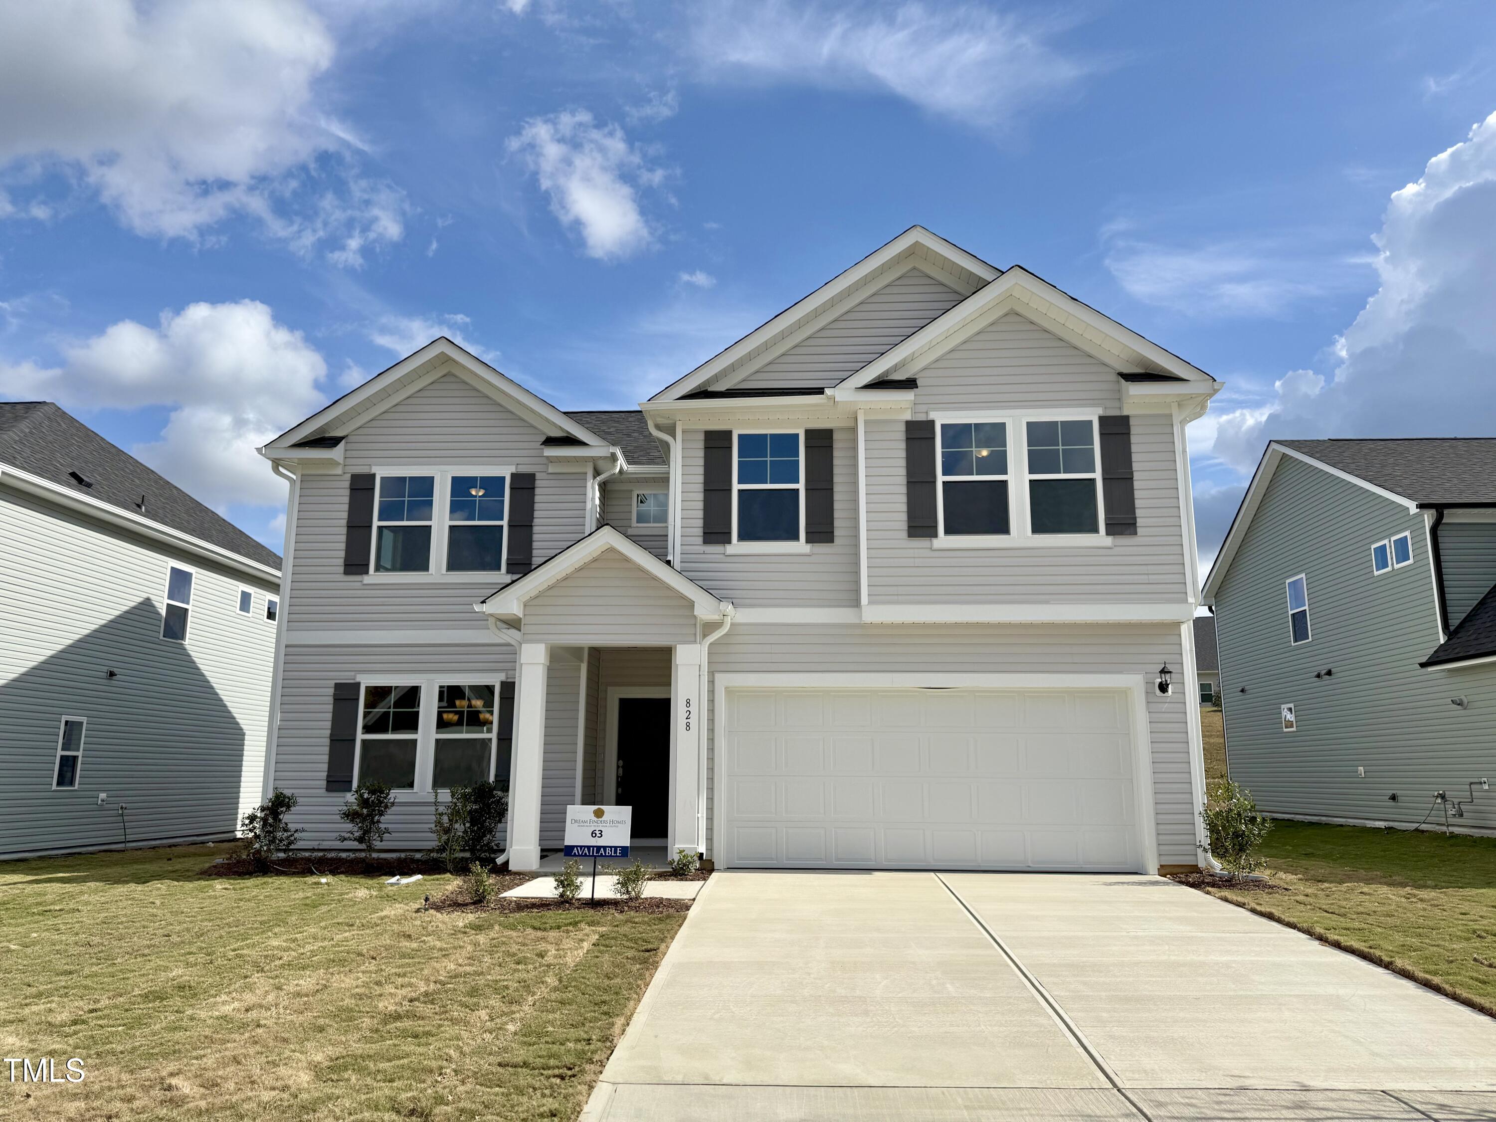
[[[1496,431],[1496,114],[1391,196],[1373,241],[1381,286],[1330,375],[1293,371],[1221,416],[1216,458],[1248,471],[1276,437]]]

